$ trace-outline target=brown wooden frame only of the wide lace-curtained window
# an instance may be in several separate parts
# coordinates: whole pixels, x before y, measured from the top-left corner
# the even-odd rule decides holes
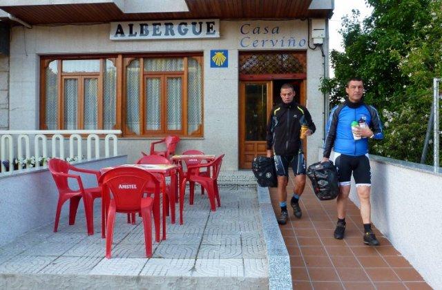
[[[150,72],[144,71],[144,59],[146,58],[177,58],[183,59],[182,71],[158,71]],[[201,68],[201,124],[198,130],[193,133],[188,131],[188,89],[189,89],[189,67],[188,59],[192,57],[198,61]],[[83,59],[99,59],[99,72],[63,72],[62,61],[64,60],[83,60]],[[126,126],[126,68],[131,60],[138,59],[140,61],[140,135],[137,135]],[[84,79],[97,78],[98,81],[98,96],[97,96],[97,124],[99,130],[104,126],[104,64],[106,60],[111,60],[116,68],[116,116],[113,129],[122,130],[122,136],[130,138],[149,138],[149,137],[164,137],[166,135],[178,135],[180,137],[203,137],[204,132],[204,65],[202,52],[190,53],[167,53],[167,54],[118,54],[118,55],[44,55],[40,59],[40,115],[39,124],[42,130],[46,130],[46,69],[51,61],[57,61],[57,128],[64,129],[64,79],[77,78],[79,86],[77,96],[77,128],[84,128]],[[145,129],[145,115],[144,104],[146,101],[145,89],[146,78],[160,76],[162,82],[161,92],[161,129],[159,131],[149,131]],[[182,128],[180,130],[167,130],[167,79],[169,77],[181,78],[182,89],[182,110],[181,122]]]

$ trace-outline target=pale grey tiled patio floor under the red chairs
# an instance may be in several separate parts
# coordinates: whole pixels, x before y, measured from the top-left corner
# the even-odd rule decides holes
[[[167,240],[153,244],[153,258],[145,258],[141,218],[135,225],[127,224],[124,214],[117,214],[112,258],[104,258],[101,207],[97,202],[95,235],[86,235],[81,212],[73,226],[68,226],[66,219],[61,220],[57,233],[49,224],[0,247],[0,288],[8,286],[4,280],[8,274],[24,273],[174,276],[181,281],[192,278],[193,282],[187,282],[193,286],[198,278],[228,278],[242,283],[249,279],[256,283],[254,287],[268,287],[268,261],[256,190],[221,191],[222,207],[215,212],[209,210],[206,195],[199,193],[197,186],[193,206],[186,198],[183,225],[171,224],[167,218]],[[177,211],[177,220],[178,216]]]

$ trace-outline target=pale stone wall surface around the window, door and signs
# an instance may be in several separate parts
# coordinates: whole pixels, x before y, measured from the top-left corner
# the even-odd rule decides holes
[[[249,23],[247,35],[241,26]],[[260,26],[260,34],[252,29]],[[278,34],[264,34],[278,26]],[[162,41],[111,41],[110,24],[84,26],[33,26],[12,28],[10,57],[10,129],[39,128],[39,55],[99,52],[187,52],[204,53],[204,138],[184,140],[181,148],[196,148],[207,153],[225,153],[223,170],[238,169],[238,53],[240,50],[307,50],[307,21],[220,21],[220,39]],[[244,37],[250,37],[242,41]],[[296,46],[287,48],[293,37]],[[26,39],[26,45],[25,45]],[[302,41],[304,39],[304,41]],[[253,41],[256,40],[256,47]],[[265,40],[264,42],[262,40]],[[278,40],[278,41],[277,41]],[[282,41],[284,40],[284,41]],[[272,42],[275,47],[272,46]],[[243,46],[241,46],[241,43]],[[264,43],[264,46],[262,46]],[[283,45],[283,46],[282,46]],[[210,50],[229,50],[228,68],[210,68]],[[309,137],[307,156],[315,160],[322,144],[323,95],[318,90],[323,77],[320,50],[307,50],[307,108],[318,131]],[[119,139],[119,152],[129,153],[128,161],[146,151],[152,139]],[[120,145],[121,144],[121,145]],[[180,151],[178,148],[178,152]]]

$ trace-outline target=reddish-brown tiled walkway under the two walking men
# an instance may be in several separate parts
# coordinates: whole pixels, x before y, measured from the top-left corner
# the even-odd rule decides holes
[[[280,226],[291,261],[294,289],[431,289],[419,273],[374,228],[379,247],[363,244],[359,209],[349,202],[344,240],[335,240],[336,200],[320,202],[307,181],[300,199],[302,218],[290,206],[294,179],[287,186],[289,222]],[[280,212],[276,189],[273,209]]]

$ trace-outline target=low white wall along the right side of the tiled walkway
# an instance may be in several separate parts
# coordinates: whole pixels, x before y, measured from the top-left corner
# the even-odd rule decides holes
[[[442,171],[370,156],[372,221],[434,289],[442,289]],[[359,206],[352,181],[350,198]]]

